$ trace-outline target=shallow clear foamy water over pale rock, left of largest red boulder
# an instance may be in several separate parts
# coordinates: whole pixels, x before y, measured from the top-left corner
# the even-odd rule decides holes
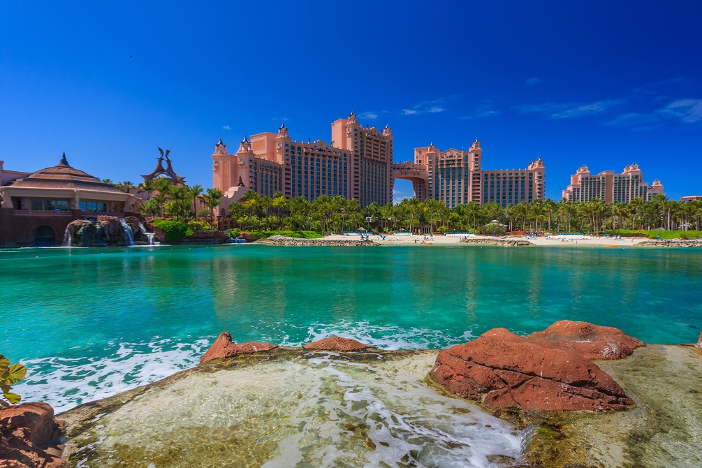
[[[288,353],[88,415],[69,467],[506,467],[526,434],[438,394],[433,353]]]

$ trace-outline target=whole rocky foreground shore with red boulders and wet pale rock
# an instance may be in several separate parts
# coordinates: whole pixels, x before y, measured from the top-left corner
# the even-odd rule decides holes
[[[391,388],[395,394],[388,402],[419,391],[411,411],[426,413],[422,424],[429,425],[418,434],[432,434],[439,420],[445,429],[454,417],[459,426],[472,427],[475,422],[458,421],[473,413],[484,424],[474,436],[505,424],[486,417],[512,424],[512,434],[524,437],[522,450],[491,449],[481,455],[489,466],[691,466],[702,453],[702,441],[694,437],[702,430],[702,401],[696,398],[702,387],[701,350],[702,333],[690,347],[644,345],[616,328],[574,321],[558,321],[527,336],[495,328],[444,350],[384,351],[333,336],[301,348],[235,344],[223,332],[196,368],[62,413],[65,429],[44,403],[0,410],[0,467],[163,468],[191,459],[197,464],[188,466],[223,460],[261,466],[298,453],[298,443],[311,453],[322,450],[331,434],[362,459],[423,463],[429,460],[427,450],[444,441],[415,442],[422,450],[404,453],[397,447],[385,450],[380,444],[389,439],[371,431],[373,424],[394,430],[392,418],[408,407],[399,407],[389,419],[357,413],[366,399],[376,401]],[[362,399],[357,401],[356,392]],[[456,412],[432,415],[447,404],[458,405]],[[291,414],[300,415],[296,421],[306,416],[286,424]],[[302,427],[318,427],[321,433]],[[510,429],[503,429],[506,436]],[[307,434],[303,439],[296,436],[300,431]],[[145,445],[144,437],[150,443]],[[320,437],[322,446],[314,448],[310,437]],[[262,445],[262,438],[274,443]],[[455,446],[449,453],[460,450]]]

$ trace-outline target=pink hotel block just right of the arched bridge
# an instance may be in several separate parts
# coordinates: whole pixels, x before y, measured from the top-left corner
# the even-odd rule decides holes
[[[400,166],[400,165],[396,165]],[[498,203],[516,205],[543,200],[545,194],[545,167],[541,158],[532,161],[526,169],[482,169],[482,148],[475,140],[468,151],[446,149],[433,144],[414,150],[414,163],[404,163],[425,171],[425,183],[415,183],[419,199],[435,199],[454,208],[462,203]]]

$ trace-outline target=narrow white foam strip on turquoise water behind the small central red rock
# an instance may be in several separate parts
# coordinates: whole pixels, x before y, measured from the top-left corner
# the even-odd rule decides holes
[[[279,324],[283,326],[283,324]],[[439,349],[470,340],[475,340],[472,330],[465,330],[461,336],[447,335],[443,330],[429,328],[402,328],[395,325],[371,325],[368,321],[338,321],[338,323],[314,323],[310,326],[296,326],[285,324],[286,334],[282,337],[276,335],[263,335],[263,340],[283,346],[303,346],[309,342],[336,335],[344,338],[353,338],[365,345],[379,349]],[[302,340],[291,338],[290,330],[294,328],[307,328],[307,336]],[[296,335],[300,335],[299,333]],[[278,342],[275,341],[276,338]]]

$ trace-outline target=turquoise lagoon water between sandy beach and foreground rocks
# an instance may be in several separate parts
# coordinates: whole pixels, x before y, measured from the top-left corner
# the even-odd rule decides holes
[[[194,366],[222,330],[447,347],[560,319],[693,342],[702,251],[665,248],[198,246],[0,250],[0,353],[25,400],[59,410]]]

